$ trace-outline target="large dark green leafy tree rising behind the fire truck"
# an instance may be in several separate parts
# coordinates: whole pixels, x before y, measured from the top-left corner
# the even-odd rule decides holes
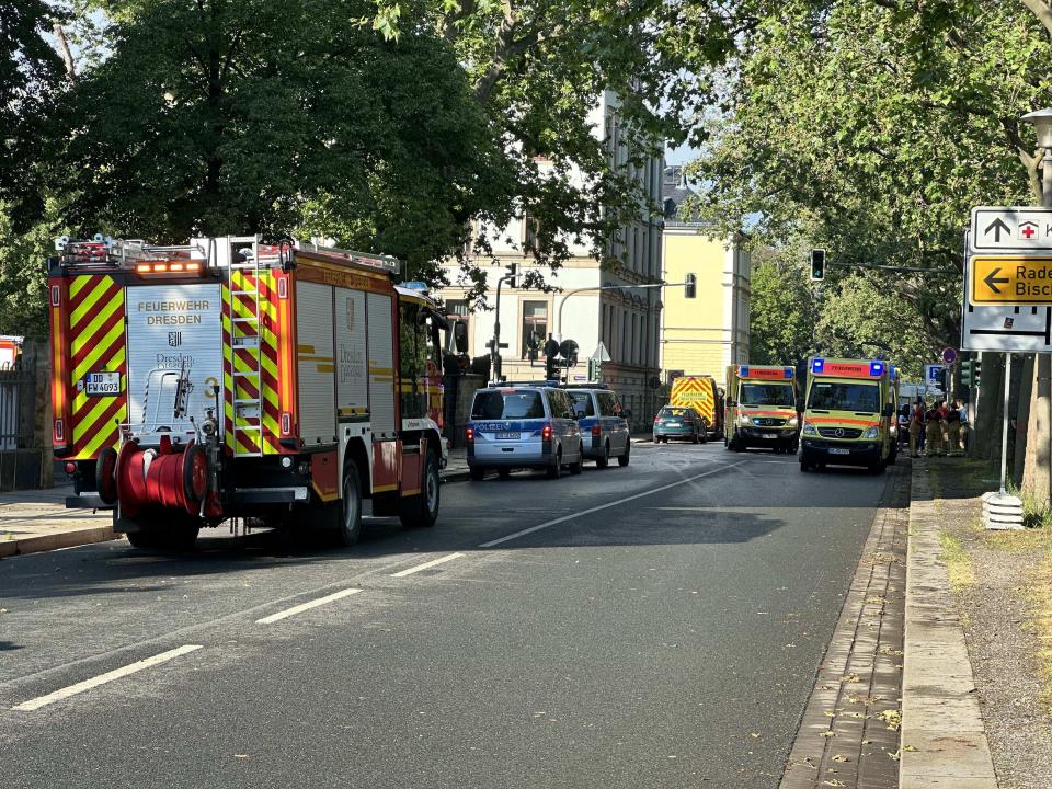
[[[435,279],[462,217],[506,218],[514,170],[434,32],[385,42],[366,0],[103,5],[111,57],[60,118],[81,232],[329,236]]]

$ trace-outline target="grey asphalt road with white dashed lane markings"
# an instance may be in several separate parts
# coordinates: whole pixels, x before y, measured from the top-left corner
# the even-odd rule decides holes
[[[775,787],[883,489],[643,444],[354,549],[0,561],[2,784]]]

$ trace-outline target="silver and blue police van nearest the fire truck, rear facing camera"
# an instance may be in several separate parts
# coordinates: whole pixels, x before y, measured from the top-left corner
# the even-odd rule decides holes
[[[564,389],[539,385],[504,385],[474,392],[466,431],[468,469],[481,480],[495,469],[506,478],[513,469],[545,469],[558,479],[563,467],[581,473],[584,441]]]

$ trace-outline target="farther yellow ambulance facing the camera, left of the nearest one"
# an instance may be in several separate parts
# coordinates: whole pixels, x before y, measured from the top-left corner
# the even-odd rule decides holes
[[[800,434],[792,367],[731,365],[727,368],[723,444],[734,451],[769,446],[796,453]]]

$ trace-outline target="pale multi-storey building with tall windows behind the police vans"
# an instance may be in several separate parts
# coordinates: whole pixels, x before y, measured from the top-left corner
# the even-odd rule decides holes
[[[605,140],[611,162],[627,163],[628,149],[621,135],[617,115],[617,100],[613,93],[603,96],[590,117],[594,134]],[[545,359],[528,358],[527,339],[535,333],[547,340],[572,339],[579,346],[578,365],[567,373],[570,382],[588,380],[588,358],[598,353],[604,358],[599,381],[615,389],[624,408],[631,412],[636,426],[649,426],[660,408],[656,385],[660,382],[659,333],[661,328],[662,288],[633,288],[656,285],[661,277],[661,217],[653,216],[652,206],[661,205],[663,161],[653,158],[642,168],[630,172],[645,188],[647,199],[640,202],[634,221],[624,227],[610,240],[604,261],[591,248],[572,245],[572,255],[558,271],[540,267],[552,293],[536,289],[508,288],[502,285],[498,312],[498,281],[505,266],[516,263],[519,272],[537,268],[533,256],[524,253],[528,218],[513,220],[500,232],[488,233],[493,241],[493,254],[477,262],[489,287],[488,310],[469,312],[465,288],[456,284],[441,291],[450,312],[467,317],[471,356],[490,352],[500,319],[502,371],[506,380],[539,380],[545,377]],[[512,242],[507,243],[507,239]],[[450,282],[456,283],[458,265],[446,266]],[[602,348],[601,348],[602,343]],[[605,354],[603,351],[605,350]],[[608,359],[607,359],[608,357]]]

